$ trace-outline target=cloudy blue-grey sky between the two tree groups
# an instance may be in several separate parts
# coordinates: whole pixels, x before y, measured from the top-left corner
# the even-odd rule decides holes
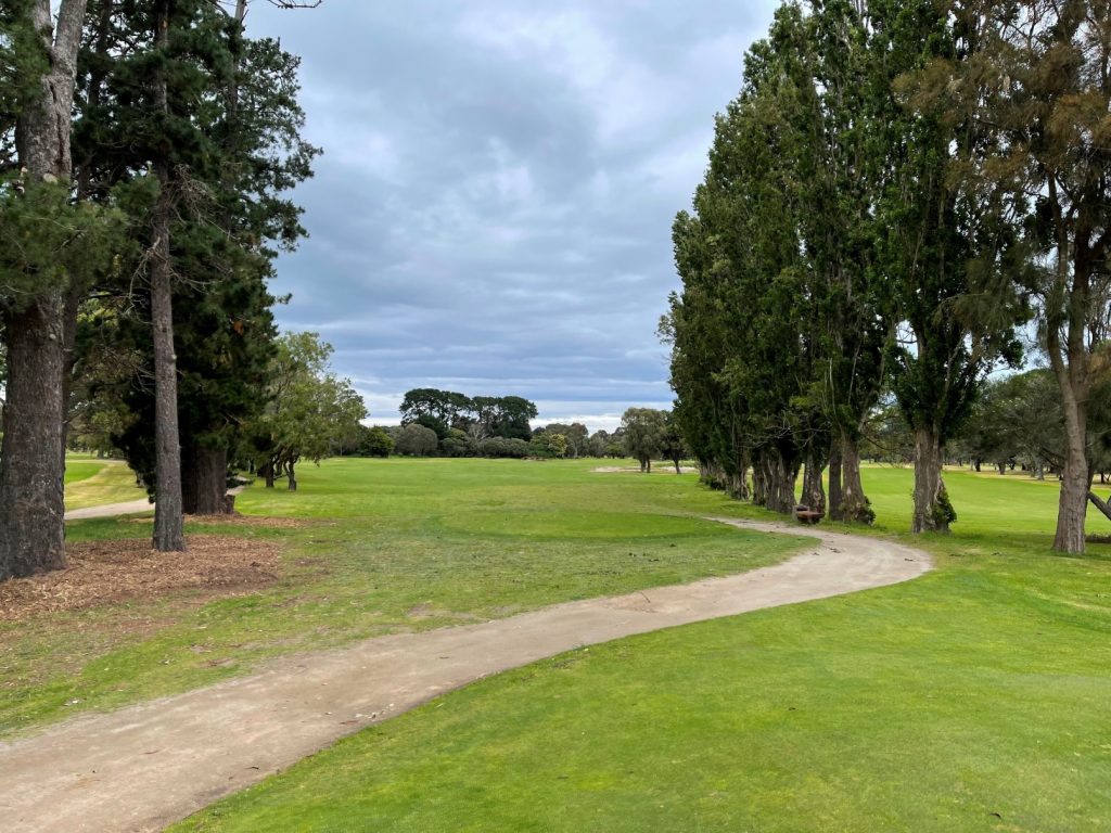
[[[300,54],[311,238],[284,329],[336,347],[371,422],[411,388],[539,423],[668,408],[670,227],[774,0],[324,0],[248,30]]]

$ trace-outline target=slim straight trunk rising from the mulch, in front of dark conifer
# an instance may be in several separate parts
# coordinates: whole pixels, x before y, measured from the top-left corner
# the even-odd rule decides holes
[[[162,51],[169,39],[169,3],[157,3],[154,40]],[[156,104],[168,110],[164,71],[154,82]],[[154,163],[158,202],[151,217],[150,310],[154,340],[154,549],[186,549],[181,516],[181,448],[178,434],[178,363],[173,351],[173,279],[170,268],[170,165],[163,157]]]

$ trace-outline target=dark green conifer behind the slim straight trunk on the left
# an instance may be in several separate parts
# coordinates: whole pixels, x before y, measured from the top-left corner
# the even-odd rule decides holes
[[[87,69],[78,84],[79,192],[117,202],[124,189],[136,193],[131,213],[146,227],[158,197],[146,175],[149,145],[157,141],[147,110],[150,72],[143,61],[150,56],[127,46],[143,42],[146,23],[113,3],[93,4],[97,22],[87,37]],[[276,41],[244,39],[241,21],[211,3],[178,8],[181,32],[169,44],[167,94],[182,144],[176,170],[183,178],[182,204],[170,228],[179,468],[182,510],[212,514],[230,510],[228,454],[240,428],[266,402],[274,337],[274,299],[266,285],[271,263],[277,250],[293,249],[304,233],[300,209],[284,192],[311,174],[318,151],[300,139],[298,59]],[[204,143],[197,144],[197,136]],[[113,293],[124,299],[119,308],[133,314],[121,315],[120,339],[149,357],[151,307],[131,295],[130,273],[142,271],[142,264],[137,258],[128,280],[102,284],[97,295],[104,305]],[[74,357],[80,361],[79,351]],[[150,388],[149,371],[140,368],[126,398],[144,419],[121,434],[121,446],[157,494]]]

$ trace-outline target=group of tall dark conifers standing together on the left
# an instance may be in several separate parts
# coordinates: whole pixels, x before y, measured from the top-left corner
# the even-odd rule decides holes
[[[319,152],[298,59],[246,37],[248,0],[51,11],[0,7],[0,579],[64,563],[71,416],[117,419],[156,549],[226,505],[228,454],[273,402],[267,281],[304,233],[286,194]]]

